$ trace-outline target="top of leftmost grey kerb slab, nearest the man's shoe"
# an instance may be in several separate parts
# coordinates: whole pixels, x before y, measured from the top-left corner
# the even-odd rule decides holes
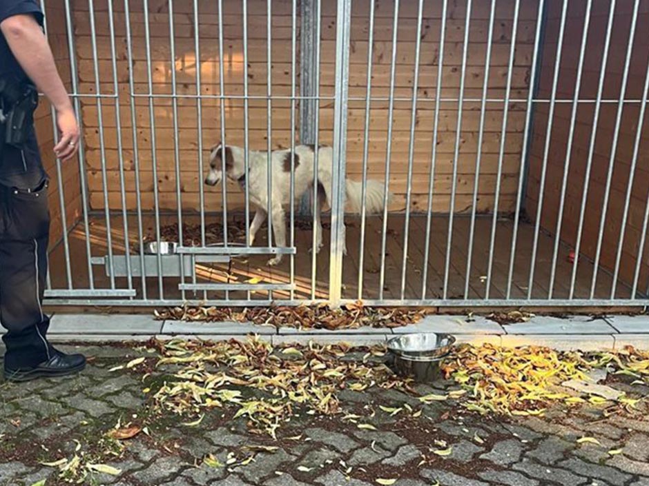
[[[162,321],[153,316],[104,314],[57,314],[52,316],[48,337],[54,334],[157,334]],[[78,339],[77,339],[78,340]]]

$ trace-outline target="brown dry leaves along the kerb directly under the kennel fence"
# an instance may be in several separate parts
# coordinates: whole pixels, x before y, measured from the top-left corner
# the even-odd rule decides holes
[[[354,329],[369,327],[401,327],[414,324],[427,311],[412,307],[365,307],[362,303],[331,309],[327,305],[298,307],[171,307],[155,311],[159,320],[202,322],[251,322],[275,327],[298,327],[300,329]]]

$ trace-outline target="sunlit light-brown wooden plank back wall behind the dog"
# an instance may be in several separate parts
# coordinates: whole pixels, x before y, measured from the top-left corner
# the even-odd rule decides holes
[[[100,90],[104,94],[114,92],[113,69],[110,62],[111,46],[106,3],[108,0],[95,0],[95,20],[97,25],[97,68],[99,70]],[[373,97],[385,98],[389,94],[389,73],[391,60],[391,38],[393,2],[376,1],[376,21],[374,26],[374,70],[372,72]],[[133,66],[129,70],[126,61],[124,4],[114,0],[115,31],[117,51],[117,80],[119,81],[119,119],[122,123],[124,161],[126,164],[126,202],[129,209],[137,203],[135,197],[135,161],[133,153],[133,133],[131,130],[128,96],[128,77],[133,75],[135,91],[148,92],[148,72],[146,45],[144,37],[144,10],[142,1],[131,1],[131,30],[133,32]],[[174,6],[175,59],[171,60],[169,41],[169,15],[167,0],[151,0],[149,14],[151,20],[151,59],[152,81],[155,94],[172,92],[171,70],[177,77],[176,90],[180,94],[196,94],[196,52],[193,40],[192,2],[176,1]],[[487,2],[473,2],[469,34],[469,55],[467,63],[465,96],[480,99],[485,76],[485,54],[489,6]],[[217,2],[200,0],[200,73],[202,77],[201,94],[219,94],[219,45]],[[275,0],[272,29],[272,70],[273,95],[291,94],[291,1]],[[458,97],[463,52],[466,2],[449,1],[448,28],[445,41],[444,70],[442,79],[443,97]],[[242,54],[242,2],[224,0],[224,87],[226,94],[243,94],[243,54]],[[416,139],[414,143],[414,179],[412,184],[412,205],[414,210],[425,210],[428,194],[428,174],[431,170],[432,127],[434,119],[434,95],[439,54],[441,6],[438,0],[426,0],[424,6],[423,42],[420,59],[420,83],[418,96],[420,102],[416,116]],[[524,99],[530,82],[530,64],[534,42],[536,1],[521,3],[519,35],[516,44],[514,69],[512,71],[512,98]],[[492,51],[489,97],[503,97],[507,77],[513,0],[498,0],[494,45]],[[267,91],[267,39],[266,2],[249,0],[249,94],[265,96]],[[299,6],[298,6],[299,13]],[[77,57],[79,58],[79,77],[81,92],[95,93],[95,74],[93,45],[88,22],[88,2],[75,3],[75,34]],[[390,187],[396,194],[391,210],[403,210],[407,182],[409,127],[411,117],[412,83],[414,75],[414,52],[416,41],[417,3],[401,2],[398,27],[398,48],[396,67],[395,96],[405,99],[394,103],[394,131],[392,134],[392,158]],[[299,17],[298,17],[299,23]],[[369,26],[369,1],[353,2],[351,23],[351,69],[349,95],[349,141],[347,143],[347,169],[352,179],[360,179],[362,174],[362,150],[364,143],[365,102],[367,92],[367,49]],[[299,26],[298,26],[299,32]],[[322,51],[320,64],[320,95],[333,97],[333,78],[335,66],[336,2],[322,2]],[[298,39],[299,48],[299,39]],[[299,59],[299,52],[296,53]],[[298,67],[299,74],[299,67]],[[299,83],[299,77],[298,77]],[[299,94],[299,86],[296,89]],[[360,100],[358,100],[360,99]],[[151,145],[151,122],[147,97],[136,99],[137,120],[136,138],[138,145],[139,170],[142,188],[142,207],[153,208],[153,152]],[[158,169],[157,185],[160,191],[162,208],[175,209],[176,176],[174,163],[173,110],[170,99],[153,99],[155,115],[155,156]],[[252,148],[264,150],[267,144],[267,102],[251,100],[249,103],[249,140]],[[202,141],[208,148],[220,139],[220,105],[215,99],[202,101]],[[458,159],[458,195],[456,210],[470,209],[475,180],[475,163],[478,143],[478,121],[480,103],[467,102],[461,130],[461,154]],[[182,207],[199,207],[200,170],[197,145],[197,109],[195,99],[178,101],[178,123],[180,127],[179,152],[181,164],[180,185]],[[226,139],[228,143],[243,145],[244,110],[241,100],[225,102]],[[525,124],[525,105],[511,103],[507,124],[505,157],[503,162],[503,181],[501,185],[500,210],[508,212],[514,208],[518,183],[520,154]],[[296,110],[296,127],[298,124]],[[438,138],[438,161],[435,172],[434,210],[449,210],[449,194],[452,185],[453,152],[458,116],[457,103],[443,103],[440,110],[440,131]],[[494,188],[498,164],[498,148],[501,139],[503,103],[488,103],[485,114],[485,134],[483,140],[483,159],[479,179],[478,209],[489,212],[494,207]],[[84,99],[84,123],[86,125],[86,147],[88,148],[88,183],[90,204],[95,210],[104,205],[101,177],[101,160],[106,160],[108,168],[108,199],[110,207],[119,210],[122,205],[119,194],[119,172],[117,134],[115,130],[117,114],[112,100],[103,103],[103,116],[98,116],[95,100]],[[101,154],[99,124],[104,129],[105,154]],[[296,130],[297,131],[297,130]],[[273,148],[287,147],[291,141],[291,104],[289,101],[273,101],[272,135]],[[331,143],[333,138],[333,102],[320,101],[320,142]],[[387,149],[387,101],[374,101],[371,105],[369,132],[369,176],[385,180],[385,159]],[[205,161],[206,165],[206,161]],[[229,188],[229,208],[242,206],[242,194],[238,188]],[[210,189],[206,194],[206,209],[220,210],[220,190]]]

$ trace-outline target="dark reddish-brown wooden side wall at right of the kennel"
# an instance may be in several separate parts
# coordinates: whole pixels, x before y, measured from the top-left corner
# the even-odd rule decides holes
[[[543,64],[539,85],[539,98],[548,99],[552,90],[552,77],[556,59],[557,39],[561,21],[561,3],[550,2],[548,24],[543,46]],[[579,47],[583,34],[585,18],[585,0],[570,1],[568,20],[565,29],[564,48],[562,50],[558,99],[574,97],[579,62]],[[595,99],[601,72],[603,43],[608,22],[609,1],[592,3],[592,18],[588,45],[584,61],[583,79],[580,99]],[[614,17],[610,54],[606,64],[606,78],[603,85],[604,99],[618,99],[621,92],[622,72],[629,42],[629,30],[632,17],[633,2],[617,3]],[[639,99],[646,78],[649,54],[649,1],[642,0],[640,17],[637,24],[635,45],[630,63],[629,81],[627,83],[626,99]],[[541,225],[556,234],[561,200],[561,185],[565,173],[566,151],[570,131],[572,103],[558,104],[554,112],[554,121],[550,135],[543,210]],[[603,103],[599,123],[597,124],[597,139],[594,145],[592,172],[588,185],[588,199],[585,210],[581,252],[589,258],[594,258],[597,249],[597,239],[602,216],[602,205],[612,141],[617,116],[617,103]],[[527,182],[527,199],[525,201],[527,214],[536,219],[543,167],[545,139],[548,134],[548,103],[536,106],[534,117],[534,134],[530,152],[530,172]],[[577,228],[581,201],[584,192],[584,176],[588,161],[588,151],[593,130],[594,104],[580,103],[577,110],[577,124],[574,130],[572,150],[570,152],[570,168],[568,170],[568,190],[565,194],[565,207],[561,225],[561,239],[569,245],[577,240]],[[621,219],[624,201],[630,180],[630,163],[638,130],[639,103],[627,103],[622,112],[621,128],[617,149],[614,151],[612,188],[608,207],[606,208],[606,224],[604,226],[601,264],[607,269],[614,268],[621,230]],[[624,231],[623,253],[621,259],[621,278],[630,282],[635,272],[635,263],[641,238],[643,216],[648,201],[649,192],[649,117],[641,121],[641,145],[639,159],[632,185],[632,199],[628,214],[628,223]],[[641,271],[641,290],[645,290],[649,276],[648,257],[643,256]]]

